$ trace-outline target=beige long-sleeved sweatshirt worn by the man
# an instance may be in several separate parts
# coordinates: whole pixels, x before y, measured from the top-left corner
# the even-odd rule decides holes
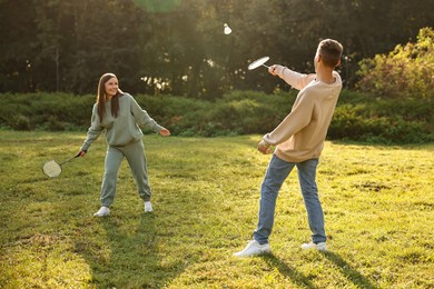
[[[335,82],[327,84],[315,74],[302,74],[284,69],[279,74],[298,89],[290,113],[264,140],[277,146],[275,153],[289,162],[319,158],[324,140],[342,89],[341,76],[333,71]]]

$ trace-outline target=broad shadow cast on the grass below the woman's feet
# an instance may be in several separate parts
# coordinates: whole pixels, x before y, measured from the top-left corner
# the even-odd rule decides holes
[[[183,260],[161,265],[159,230],[154,213],[101,218],[100,241],[81,255],[98,288],[162,288],[185,270]],[[86,237],[85,239],[86,240]],[[82,246],[82,245],[81,245]],[[89,245],[87,245],[89,246]],[[81,248],[82,249],[82,248]]]

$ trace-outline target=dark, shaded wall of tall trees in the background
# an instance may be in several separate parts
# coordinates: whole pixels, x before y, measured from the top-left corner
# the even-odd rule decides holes
[[[322,38],[344,43],[352,87],[359,60],[415,37],[432,11],[432,0],[0,0],[0,92],[93,93],[110,71],[134,93],[269,93],[280,82],[249,61],[312,71]]]

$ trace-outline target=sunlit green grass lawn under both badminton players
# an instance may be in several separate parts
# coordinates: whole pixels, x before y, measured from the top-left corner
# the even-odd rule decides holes
[[[274,253],[237,259],[255,229],[269,156],[258,136],[145,136],[155,212],[124,161],[108,218],[95,218],[101,137],[60,177],[85,133],[0,131],[0,288],[433,288],[434,146],[326,142],[318,187],[329,252],[309,240],[294,171],[270,238]]]

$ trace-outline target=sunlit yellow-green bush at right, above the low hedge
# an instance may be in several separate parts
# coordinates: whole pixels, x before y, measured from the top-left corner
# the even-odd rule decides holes
[[[387,98],[434,99],[434,30],[421,29],[417,42],[396,46],[388,54],[361,62],[357,84]]]

